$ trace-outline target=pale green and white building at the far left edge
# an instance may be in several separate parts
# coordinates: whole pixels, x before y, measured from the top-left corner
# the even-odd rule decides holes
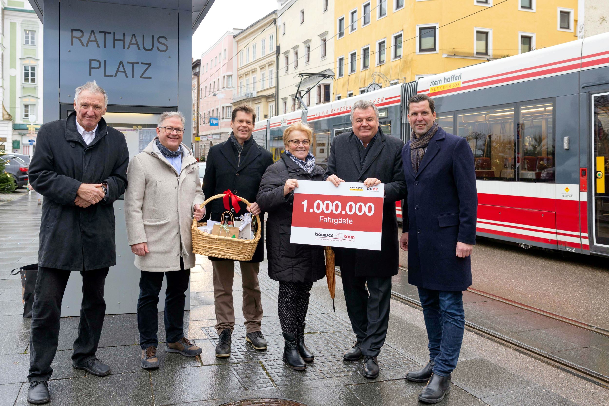
[[[43,123],[43,26],[27,1],[2,4],[0,149],[31,155]]]

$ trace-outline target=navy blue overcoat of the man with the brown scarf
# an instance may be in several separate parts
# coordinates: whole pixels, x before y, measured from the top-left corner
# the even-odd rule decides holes
[[[471,285],[471,257],[455,255],[457,241],[476,243],[476,172],[467,140],[438,128],[415,174],[410,142],[404,146],[408,282],[463,291]]]

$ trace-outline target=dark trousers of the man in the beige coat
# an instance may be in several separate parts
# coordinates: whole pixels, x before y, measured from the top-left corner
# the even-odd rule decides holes
[[[158,347],[158,294],[163,285],[163,275],[167,278],[165,291],[165,333],[166,342],[175,343],[184,337],[184,305],[186,289],[190,280],[190,269],[184,269],[180,258],[180,271],[147,272],[139,277],[138,329],[139,346],[147,349]]]

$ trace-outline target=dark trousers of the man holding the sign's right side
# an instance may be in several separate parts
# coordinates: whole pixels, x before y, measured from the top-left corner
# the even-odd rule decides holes
[[[362,354],[376,357],[387,337],[391,277],[356,277],[353,269],[343,268],[340,277],[351,327],[357,341],[362,343]]]

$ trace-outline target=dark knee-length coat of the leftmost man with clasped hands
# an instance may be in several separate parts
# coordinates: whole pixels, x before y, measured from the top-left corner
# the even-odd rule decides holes
[[[30,183],[44,196],[38,265],[88,271],[116,265],[113,202],[127,187],[125,135],[102,118],[89,145],[76,128],[76,113],[43,124],[29,167]],[[97,204],[74,205],[81,183],[107,183]]]

